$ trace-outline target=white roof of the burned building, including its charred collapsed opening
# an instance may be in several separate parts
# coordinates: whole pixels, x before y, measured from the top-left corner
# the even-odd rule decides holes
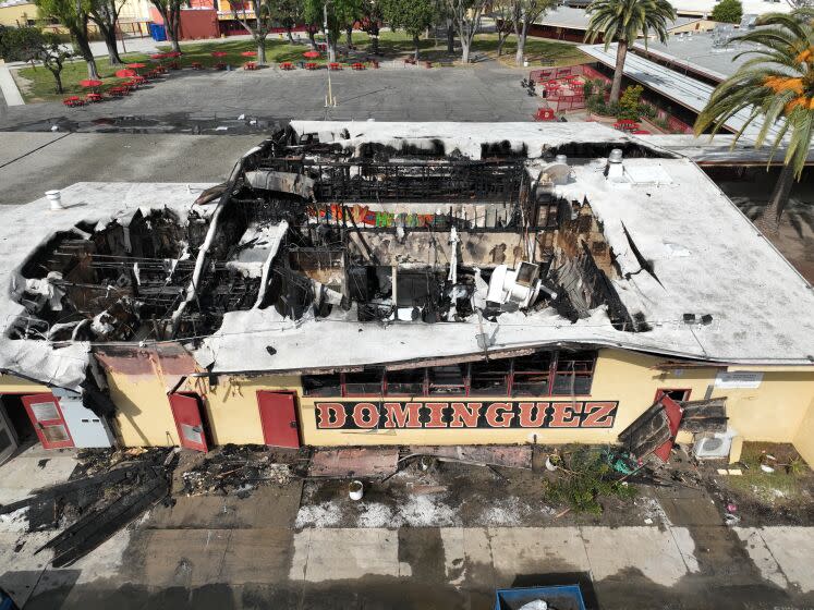
[[[174,344],[212,374],[814,352],[811,286],[715,184],[593,123],[294,121],[226,184],[62,203],[0,211],[0,368],[54,386],[105,345]]]

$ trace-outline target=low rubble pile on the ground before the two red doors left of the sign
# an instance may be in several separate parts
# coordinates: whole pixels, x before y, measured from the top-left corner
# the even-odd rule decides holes
[[[288,485],[291,467],[274,461],[259,444],[228,444],[181,475],[186,496],[223,495],[247,498],[263,485]]]

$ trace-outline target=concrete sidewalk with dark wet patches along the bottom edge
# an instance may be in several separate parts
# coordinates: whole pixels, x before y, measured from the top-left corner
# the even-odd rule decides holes
[[[582,585],[590,608],[814,603],[814,529],[483,527],[120,532],[71,568],[0,534],[25,608],[489,609],[494,589]],[[34,535],[41,536],[41,535]],[[702,547],[700,541],[710,547]]]

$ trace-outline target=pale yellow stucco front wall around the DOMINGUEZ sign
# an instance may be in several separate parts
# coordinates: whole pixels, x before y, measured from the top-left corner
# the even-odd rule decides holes
[[[625,352],[602,350],[590,396],[575,400],[618,401],[611,428],[544,428],[544,429],[381,429],[341,430],[316,428],[317,402],[364,402],[364,399],[299,398],[301,439],[305,444],[467,444],[467,443],[563,443],[615,442],[617,435],[633,422],[655,398],[658,389],[689,389],[691,399],[704,398],[714,386],[720,368],[685,368],[661,370],[656,365],[664,358]],[[814,462],[814,367],[781,369],[773,367],[730,367],[730,370],[758,370],[763,380],[756,389],[714,388],[713,396],[726,395],[730,426],[745,440],[794,442],[806,460]],[[125,446],[172,446],[178,443],[174,418],[167,398],[172,379],[156,375],[124,375],[107,370],[113,402],[119,408],[116,431]],[[263,443],[257,406],[258,390],[288,390],[300,393],[297,376],[221,376],[216,386],[205,377],[190,378],[178,391],[202,396],[209,423],[212,444]],[[11,376],[0,376],[0,392],[47,391]],[[399,401],[399,399],[394,399]],[[438,402],[440,399],[417,399],[415,402]],[[449,399],[460,401],[460,399]],[[569,399],[552,396],[539,401]],[[507,401],[495,396],[465,399],[465,402]],[[401,399],[400,402],[405,402]],[[441,400],[441,402],[445,402]],[[535,438],[536,435],[536,438]],[[689,438],[682,438],[689,440]]]

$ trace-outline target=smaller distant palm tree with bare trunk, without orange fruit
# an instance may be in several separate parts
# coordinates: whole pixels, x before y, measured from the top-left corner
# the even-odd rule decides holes
[[[600,34],[606,51],[610,42],[618,42],[610,101],[619,101],[628,48],[640,34],[644,36],[645,47],[653,34],[666,42],[667,22],[676,19],[676,10],[667,0],[593,0],[585,11],[591,15],[585,32],[587,42],[594,42]]]

